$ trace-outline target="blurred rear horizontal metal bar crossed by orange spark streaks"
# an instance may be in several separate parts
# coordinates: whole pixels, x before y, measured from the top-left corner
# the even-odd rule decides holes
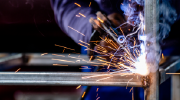
[[[28,53],[29,57],[27,63],[28,66],[52,66],[53,64],[63,64],[69,66],[81,66],[81,65],[102,65],[103,62],[97,59],[89,61],[87,55],[82,54],[45,54],[41,56],[40,53]],[[104,63],[103,63],[104,64]]]

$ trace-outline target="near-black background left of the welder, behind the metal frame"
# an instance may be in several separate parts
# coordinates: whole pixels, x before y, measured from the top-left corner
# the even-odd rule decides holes
[[[80,46],[54,20],[50,0],[0,0],[0,53],[62,53]],[[65,50],[64,53],[71,53]],[[80,71],[77,67],[16,66],[1,71]],[[75,93],[77,86],[0,86],[0,100],[14,100],[17,92]]]

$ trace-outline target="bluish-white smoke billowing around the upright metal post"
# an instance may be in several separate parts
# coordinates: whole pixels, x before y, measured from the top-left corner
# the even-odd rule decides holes
[[[144,0],[124,0],[120,6],[121,10],[124,11],[127,22],[134,26],[141,27],[141,31],[138,33],[139,37],[144,34],[144,3]],[[162,41],[168,36],[171,25],[174,24],[176,19],[176,10],[171,6],[170,1],[163,0],[163,2],[159,4],[159,34],[157,37],[153,37],[152,34],[145,35],[146,39],[143,40],[141,44],[141,55],[137,60],[137,68],[140,68],[146,58],[146,63],[148,64],[147,69],[150,72],[158,70],[158,67],[152,67],[157,66],[156,64],[159,62],[161,56],[160,48],[156,47],[156,40]],[[154,54],[157,55],[155,56]]]

